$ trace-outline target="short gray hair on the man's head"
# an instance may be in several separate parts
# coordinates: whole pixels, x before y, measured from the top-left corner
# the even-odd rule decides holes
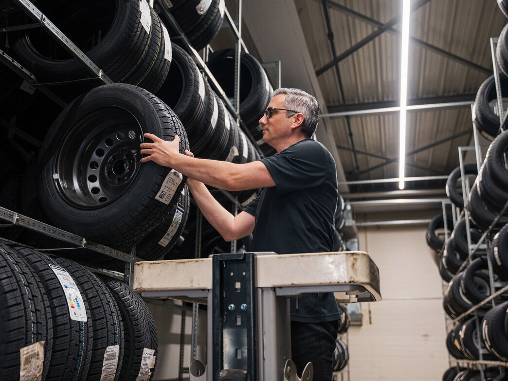
[[[303,114],[302,133],[307,138],[312,137],[319,121],[319,105],[317,100],[310,94],[297,88],[280,87],[273,92],[273,97],[279,94],[285,95],[284,107]],[[286,111],[288,117],[294,114],[294,112]]]

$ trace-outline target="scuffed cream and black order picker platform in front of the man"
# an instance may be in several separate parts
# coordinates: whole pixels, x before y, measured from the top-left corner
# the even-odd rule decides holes
[[[199,361],[190,366],[190,379],[200,381],[294,380],[294,369],[286,365],[291,359],[290,297],[334,292],[341,303],[381,300],[377,266],[361,251],[138,262],[133,289],[145,297],[211,306],[208,366],[205,370]],[[304,375],[312,379],[311,370]]]

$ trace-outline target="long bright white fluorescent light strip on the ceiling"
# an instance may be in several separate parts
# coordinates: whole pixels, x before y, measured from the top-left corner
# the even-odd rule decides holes
[[[411,0],[402,0],[402,44],[400,62],[399,189],[404,189],[406,162],[407,69],[409,61],[409,17]]]

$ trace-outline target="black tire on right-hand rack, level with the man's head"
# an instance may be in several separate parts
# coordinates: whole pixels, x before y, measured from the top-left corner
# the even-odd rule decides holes
[[[500,73],[503,97],[508,97],[508,77]],[[499,116],[494,114],[489,103],[497,99],[494,76],[487,78],[480,86],[474,100],[474,125],[482,136],[490,141],[499,134]],[[504,126],[503,126],[504,127]]]

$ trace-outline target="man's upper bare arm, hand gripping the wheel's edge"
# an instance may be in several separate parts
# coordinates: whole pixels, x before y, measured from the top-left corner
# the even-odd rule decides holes
[[[153,161],[205,184],[230,191],[275,186],[268,169],[260,161],[233,164],[195,158],[179,152],[178,136],[171,142],[153,134],[144,136],[153,143],[141,143],[141,153],[148,155],[141,159],[142,163]]]

